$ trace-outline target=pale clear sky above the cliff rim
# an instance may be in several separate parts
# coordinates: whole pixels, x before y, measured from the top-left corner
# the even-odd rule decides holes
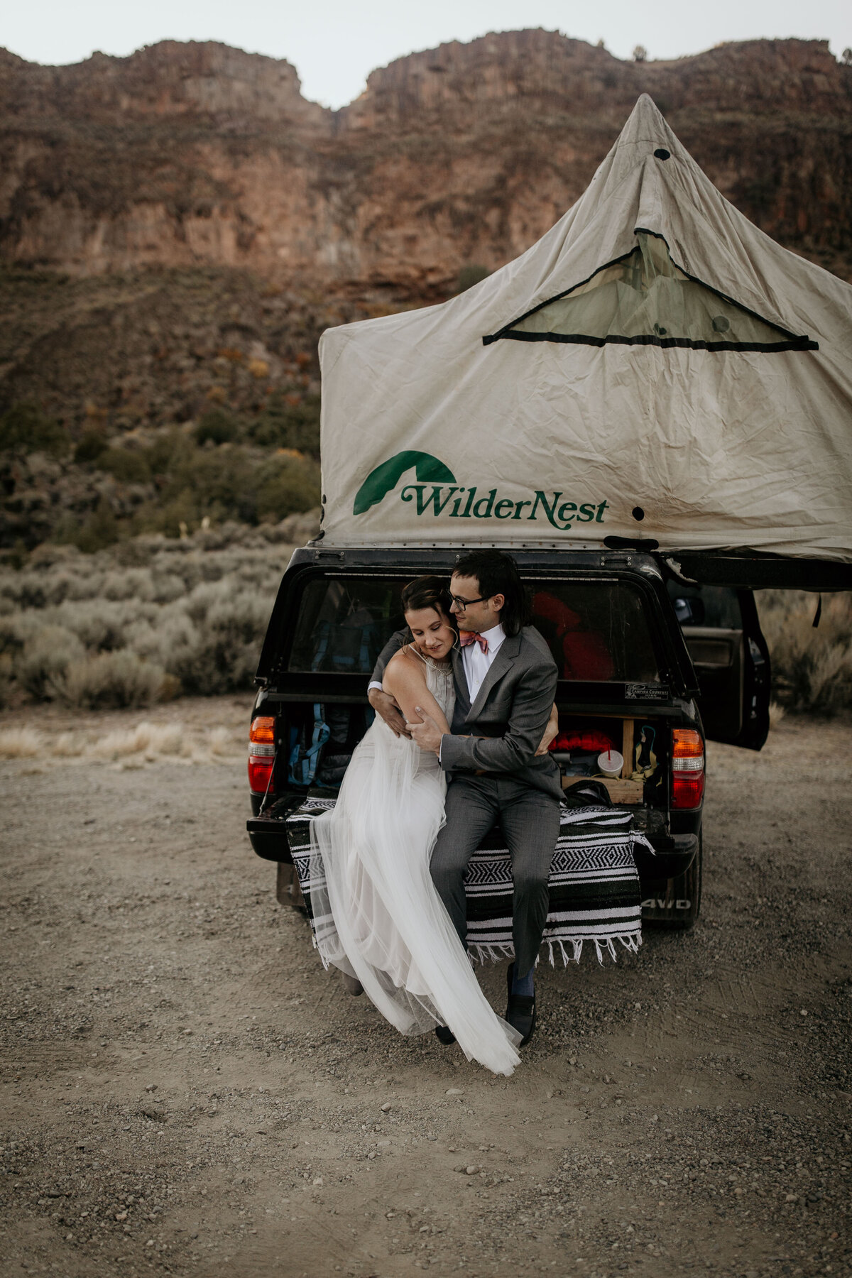
[[[342,106],[395,58],[489,31],[544,27],[617,58],[644,45],[655,59],[697,54],[723,40],[798,36],[852,46],[849,0],[34,0],[6,4],[0,45],[29,61],[64,64],[98,49],[124,56],[158,40],[220,40],[286,58],[305,97]]]

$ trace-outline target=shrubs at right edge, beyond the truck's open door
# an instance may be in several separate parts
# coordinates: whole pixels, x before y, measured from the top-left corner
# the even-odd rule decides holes
[[[823,596],[815,627],[816,604],[818,597],[803,590],[757,594],[779,703],[830,716],[852,708],[852,596]]]

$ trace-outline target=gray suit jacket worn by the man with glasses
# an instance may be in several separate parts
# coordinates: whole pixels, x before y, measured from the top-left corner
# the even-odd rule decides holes
[[[381,682],[384,667],[407,630],[397,630],[382,649],[373,671]],[[452,736],[441,745],[446,772],[488,772],[512,777],[554,799],[562,797],[559,769],[549,754],[535,757],[556,697],[557,667],[534,626],[503,639],[471,705],[461,649],[453,648],[456,708]],[[469,734],[469,735],[468,735]]]

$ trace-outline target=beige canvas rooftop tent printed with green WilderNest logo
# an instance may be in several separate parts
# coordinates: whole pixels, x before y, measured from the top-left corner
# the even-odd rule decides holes
[[[852,562],[852,288],[737,212],[648,96],[526,253],[319,350],[324,544]]]

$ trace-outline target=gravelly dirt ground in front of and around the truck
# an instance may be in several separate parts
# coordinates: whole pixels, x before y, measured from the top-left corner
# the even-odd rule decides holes
[[[497,1080],[276,905],[245,705],[156,717],[232,753],[0,764],[4,1275],[851,1272],[852,728],[711,746],[699,925],[542,971]]]

